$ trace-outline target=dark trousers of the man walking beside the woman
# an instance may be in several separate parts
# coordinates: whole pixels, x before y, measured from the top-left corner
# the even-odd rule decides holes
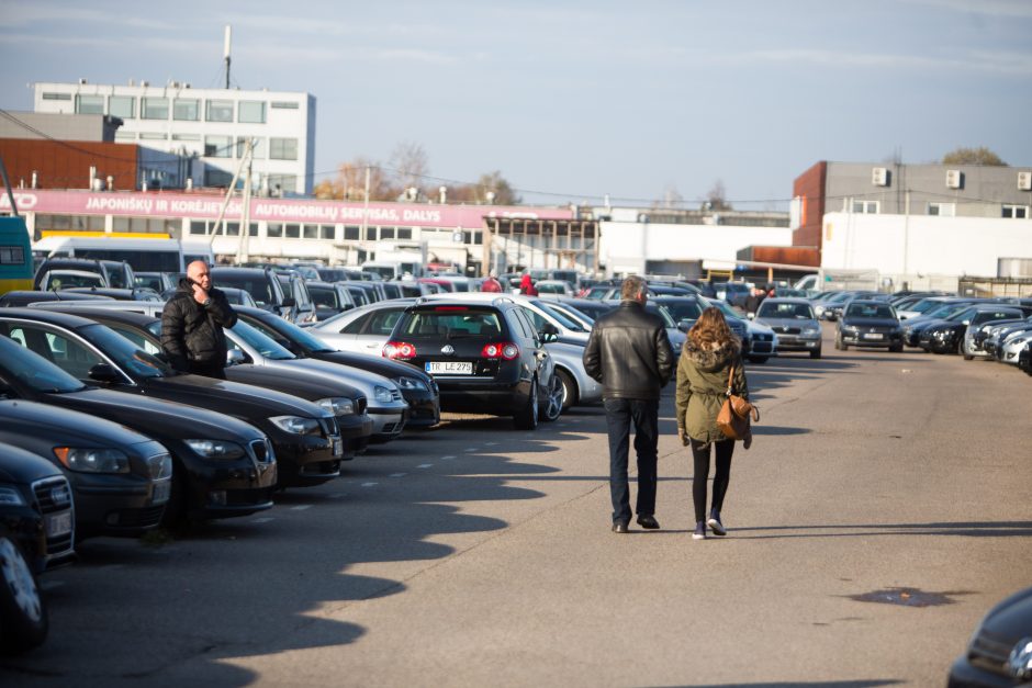
[[[605,399],[609,435],[609,498],[613,521],[630,522],[630,487],[627,484],[627,455],[630,428],[635,428],[638,454],[638,516],[655,514],[655,456],[659,443],[659,401]]]

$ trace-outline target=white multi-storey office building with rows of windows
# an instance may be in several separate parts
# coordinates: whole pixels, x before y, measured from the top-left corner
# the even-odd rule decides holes
[[[37,113],[106,114],[122,120],[115,142],[195,156],[193,185],[227,187],[254,142],[257,192],[311,193],[315,170],[315,97],[288,91],[194,89],[169,81],[127,86],[41,82]],[[149,181],[149,180],[148,180]]]

